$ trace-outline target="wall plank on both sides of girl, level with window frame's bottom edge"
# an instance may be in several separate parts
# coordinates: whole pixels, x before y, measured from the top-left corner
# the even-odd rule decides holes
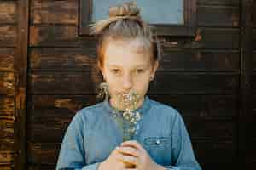
[[[96,48],[93,37],[78,38],[77,26],[31,26],[32,47],[87,47]],[[184,38],[160,37],[164,48],[219,48],[238,49],[239,29],[198,28],[194,41]]]

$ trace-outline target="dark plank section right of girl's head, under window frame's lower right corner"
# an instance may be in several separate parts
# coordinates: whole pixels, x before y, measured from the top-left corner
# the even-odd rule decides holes
[[[198,27],[195,39],[159,37],[163,48],[238,49],[239,29]]]

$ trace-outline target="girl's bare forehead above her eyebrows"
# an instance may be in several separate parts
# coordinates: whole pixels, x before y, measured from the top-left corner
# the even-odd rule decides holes
[[[140,40],[109,41],[106,44],[104,62],[107,65],[148,65],[150,60],[150,49]]]

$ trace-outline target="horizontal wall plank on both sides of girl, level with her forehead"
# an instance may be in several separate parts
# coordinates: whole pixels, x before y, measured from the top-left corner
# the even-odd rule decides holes
[[[160,71],[239,71],[236,51],[172,49],[163,50]],[[32,48],[32,71],[94,71],[96,48]]]

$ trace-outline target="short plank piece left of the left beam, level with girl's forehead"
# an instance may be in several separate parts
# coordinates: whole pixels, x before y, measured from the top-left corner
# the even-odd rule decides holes
[[[14,48],[0,48],[0,71],[14,71]]]

